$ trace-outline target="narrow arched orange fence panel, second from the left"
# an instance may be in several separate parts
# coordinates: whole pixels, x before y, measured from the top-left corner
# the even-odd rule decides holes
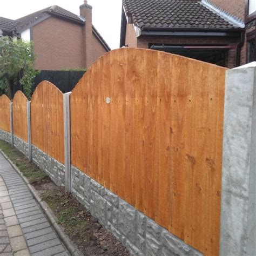
[[[12,117],[15,136],[28,142],[28,121],[26,103],[28,99],[22,91],[17,91],[12,101]]]

